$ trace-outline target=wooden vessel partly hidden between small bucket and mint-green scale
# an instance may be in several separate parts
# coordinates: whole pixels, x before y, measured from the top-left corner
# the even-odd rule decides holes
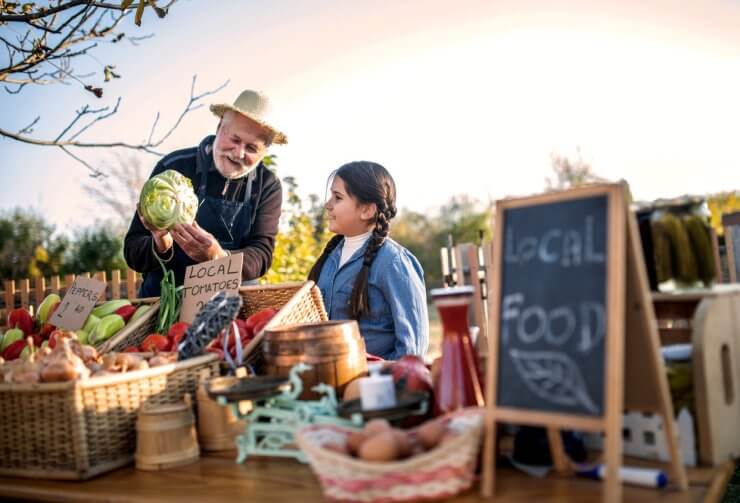
[[[198,443],[204,451],[228,451],[236,447],[237,435],[244,433],[246,420],[239,421],[231,407],[212,400],[201,384],[196,394],[198,404]]]

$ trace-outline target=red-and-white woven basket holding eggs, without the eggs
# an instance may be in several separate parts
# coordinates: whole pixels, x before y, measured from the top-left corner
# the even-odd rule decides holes
[[[362,503],[436,500],[473,484],[483,414],[482,409],[472,408],[437,420],[446,421],[448,428],[458,432],[454,441],[389,463],[362,461],[323,448],[326,443],[344,444],[353,431],[350,428],[306,426],[298,431],[296,439],[327,499]],[[409,431],[414,435],[417,430]]]

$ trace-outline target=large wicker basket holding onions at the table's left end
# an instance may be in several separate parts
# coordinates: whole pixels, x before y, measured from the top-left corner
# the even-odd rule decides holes
[[[142,403],[194,393],[205,355],[148,370],[81,382],[0,384],[0,475],[88,479],[133,461]]]

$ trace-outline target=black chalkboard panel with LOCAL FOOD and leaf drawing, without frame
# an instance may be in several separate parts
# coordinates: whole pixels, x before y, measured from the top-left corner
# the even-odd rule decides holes
[[[608,197],[504,213],[497,405],[602,416]]]

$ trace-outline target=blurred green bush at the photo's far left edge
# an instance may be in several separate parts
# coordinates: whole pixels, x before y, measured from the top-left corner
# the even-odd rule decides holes
[[[66,238],[55,238],[54,226],[32,210],[16,208],[0,215],[0,278],[22,279],[58,274]]]

